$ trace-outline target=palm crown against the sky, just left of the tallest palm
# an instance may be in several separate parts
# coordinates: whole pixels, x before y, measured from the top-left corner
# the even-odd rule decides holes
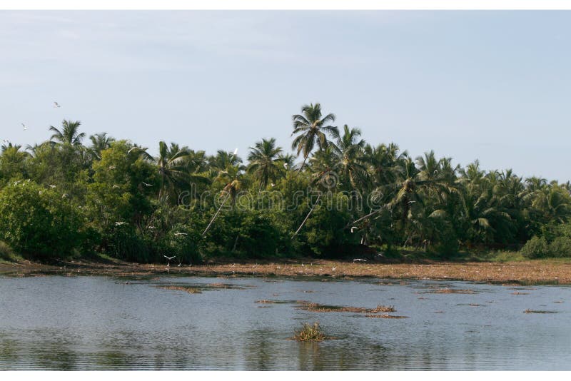
[[[268,181],[276,182],[276,179],[282,172],[279,154],[282,153],[281,147],[276,147],[276,139],[262,139],[258,141],[248,155],[248,173],[251,173],[260,182],[260,191],[266,188]]]

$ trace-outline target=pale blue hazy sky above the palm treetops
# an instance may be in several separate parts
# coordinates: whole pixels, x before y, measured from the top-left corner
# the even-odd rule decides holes
[[[246,158],[319,102],[413,158],[569,181],[570,48],[571,11],[0,11],[0,140],[65,118]]]

